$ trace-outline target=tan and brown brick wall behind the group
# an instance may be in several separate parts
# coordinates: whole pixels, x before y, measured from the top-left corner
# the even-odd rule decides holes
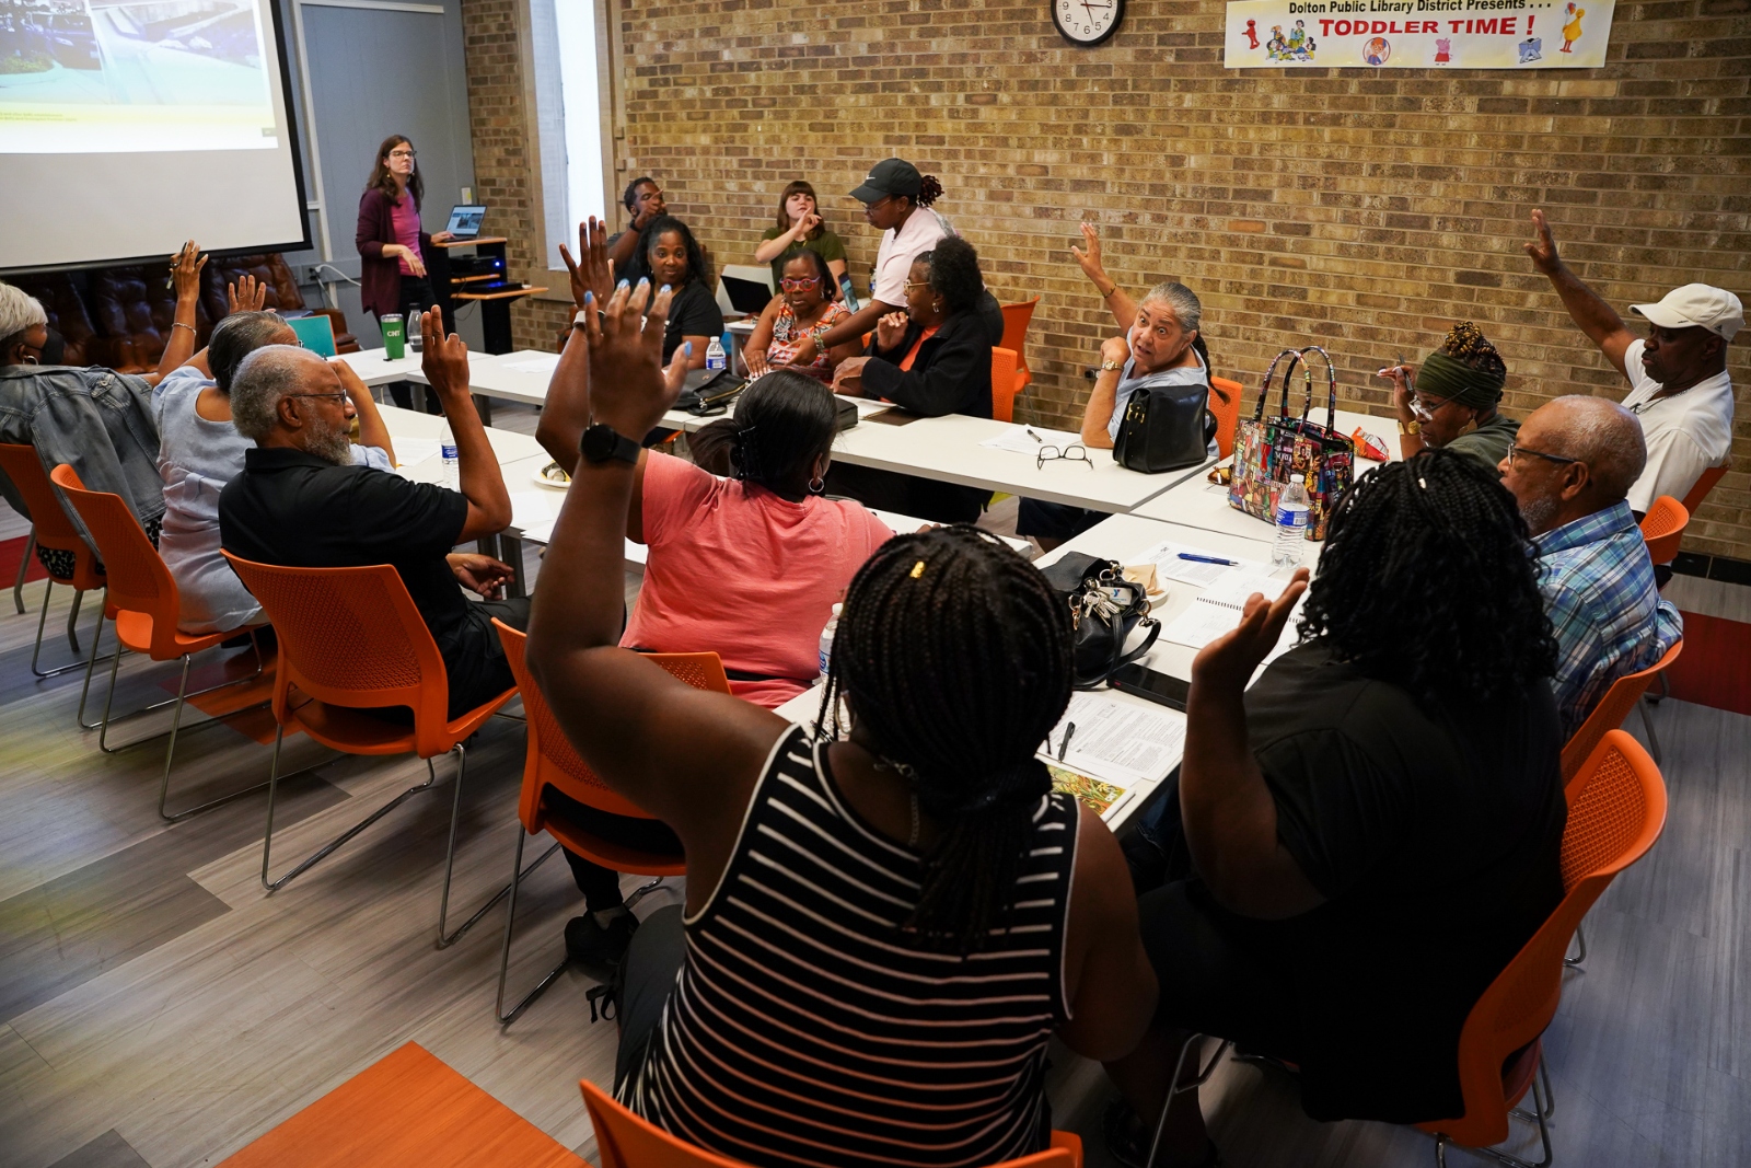
[[[510,2],[473,0],[464,19]],[[1459,319],[1508,359],[1509,413],[1557,394],[1621,398],[1522,252],[1532,207],[1620,310],[1688,280],[1751,298],[1747,0],[1623,4],[1606,68],[1525,74],[1240,74],[1220,67],[1217,0],[1128,9],[1087,51],[1058,39],[1045,0],[641,5],[622,25],[620,156],[662,180],[716,263],[749,261],[777,191],[809,179],[860,287],[877,238],[842,193],[886,154],[940,175],[939,210],[979,247],[993,291],[1042,298],[1017,417],[1059,426],[1080,417],[1080,369],[1114,331],[1068,257],[1082,219],[1133,291],[1198,291],[1217,371],[1247,383],[1248,405],[1271,354],[1317,340],[1343,399],[1385,413],[1373,369],[1427,352]],[[497,137],[506,98],[482,107],[503,84],[475,54],[476,37],[497,54],[494,21],[469,25],[489,201],[490,184],[527,182],[496,173],[518,158]],[[539,340],[562,313],[520,319]],[[1740,385],[1747,348],[1751,336],[1732,350]],[[1751,415],[1735,429],[1742,469],[1686,548],[1751,559]]]

